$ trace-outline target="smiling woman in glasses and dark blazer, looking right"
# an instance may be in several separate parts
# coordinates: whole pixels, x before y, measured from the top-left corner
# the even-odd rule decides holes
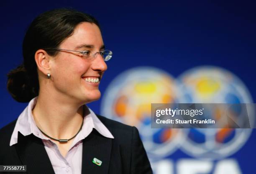
[[[10,94],[29,104],[0,130],[0,165],[26,165],[37,174],[152,173],[138,130],[84,105],[100,98],[112,57],[104,49],[90,15],[58,9],[33,20],[23,64],[8,74]]]

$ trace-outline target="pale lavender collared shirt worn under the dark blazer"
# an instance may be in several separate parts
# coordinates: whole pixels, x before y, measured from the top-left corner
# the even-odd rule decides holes
[[[33,98],[28,106],[18,117],[13,134],[10,139],[10,146],[18,143],[18,131],[23,136],[33,133],[34,136],[41,138],[44,143],[44,148],[49,156],[51,165],[55,174],[80,174],[82,172],[82,140],[86,138],[95,128],[102,136],[114,138],[110,131],[101,123],[95,113],[90,110],[90,114],[84,115],[84,123],[81,131],[74,138],[74,141],[69,148],[66,156],[62,156],[58,146],[49,138],[44,136],[37,128],[32,115],[32,109],[36,105],[37,97]],[[84,105],[84,107],[87,107]]]

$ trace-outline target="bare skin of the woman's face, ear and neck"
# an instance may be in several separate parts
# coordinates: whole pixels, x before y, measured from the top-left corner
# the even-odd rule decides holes
[[[77,51],[89,49],[77,48],[84,44],[91,45],[93,53],[103,50],[100,29],[93,23],[77,25],[72,36],[66,38],[59,48]],[[86,82],[84,78],[101,79],[107,65],[100,54],[94,59],[84,59],[77,52],[59,51],[52,57],[41,49],[36,51],[35,61],[40,86],[38,100],[32,111],[36,125],[56,139],[71,138],[82,124],[82,105],[100,98],[99,84]],[[50,79],[47,73],[51,74]],[[66,156],[73,140],[68,143],[52,141]]]

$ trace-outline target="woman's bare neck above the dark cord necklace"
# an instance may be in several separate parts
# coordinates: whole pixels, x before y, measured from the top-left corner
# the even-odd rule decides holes
[[[69,139],[74,136],[83,121],[83,105],[43,96],[46,95],[38,96],[32,111],[38,128],[56,139]]]

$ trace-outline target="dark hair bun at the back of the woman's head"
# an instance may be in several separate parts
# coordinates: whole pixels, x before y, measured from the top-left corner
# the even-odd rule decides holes
[[[23,64],[8,74],[7,89],[18,102],[29,102],[36,94]]]

